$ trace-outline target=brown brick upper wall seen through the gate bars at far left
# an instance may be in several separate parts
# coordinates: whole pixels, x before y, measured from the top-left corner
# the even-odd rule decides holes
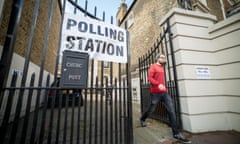
[[[4,40],[5,40],[7,28],[8,28],[9,16],[11,12],[11,6],[12,4],[10,2],[6,2],[4,6],[3,20],[0,26],[0,31],[1,31],[0,44],[1,45],[4,45]],[[14,48],[14,52],[22,57],[25,57],[25,53],[27,51],[27,47],[29,43],[29,35],[30,35],[31,26],[32,26],[34,6],[35,6],[34,0],[24,1],[22,17],[21,17],[19,28],[18,28],[17,39],[16,39],[15,48]],[[45,33],[46,33],[46,25],[48,22],[49,9],[50,9],[50,1],[41,1],[36,29],[33,37],[32,51],[31,51],[31,58],[30,58],[31,62],[35,63],[38,66],[41,65],[42,49],[44,46],[44,40],[46,35]],[[45,70],[51,73],[54,73],[54,70],[55,70],[60,24],[61,24],[60,9],[58,5],[58,0],[55,0],[48,45],[47,45],[46,61],[45,61]]]

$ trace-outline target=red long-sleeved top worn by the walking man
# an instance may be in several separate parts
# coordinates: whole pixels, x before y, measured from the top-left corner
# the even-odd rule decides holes
[[[164,93],[167,89],[160,90],[158,86],[163,84],[165,86],[164,67],[158,64],[152,64],[148,71],[148,80],[151,84],[151,93]],[[166,87],[166,86],[165,86]]]

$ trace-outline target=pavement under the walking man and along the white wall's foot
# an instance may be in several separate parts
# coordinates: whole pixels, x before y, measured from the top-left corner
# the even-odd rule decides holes
[[[154,119],[146,120],[147,127],[141,127],[139,117],[141,115],[140,103],[133,102],[133,136],[134,144],[181,144],[172,137],[171,128]],[[240,144],[240,132],[214,131],[205,133],[181,132],[192,144]]]

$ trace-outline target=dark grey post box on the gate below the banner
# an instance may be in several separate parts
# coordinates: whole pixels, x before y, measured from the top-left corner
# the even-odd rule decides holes
[[[86,88],[88,81],[87,53],[64,51],[62,60],[61,88]]]

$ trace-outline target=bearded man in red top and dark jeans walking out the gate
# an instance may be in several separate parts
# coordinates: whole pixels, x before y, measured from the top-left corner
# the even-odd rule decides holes
[[[149,114],[153,113],[160,101],[163,102],[167,109],[170,124],[172,127],[173,137],[181,140],[184,143],[191,143],[188,139],[182,136],[177,129],[176,115],[174,111],[174,106],[170,95],[167,93],[167,88],[165,86],[165,76],[164,76],[164,64],[166,63],[165,56],[162,54],[156,55],[156,63],[152,64],[148,71],[148,80],[150,82],[150,93],[151,93],[151,105],[148,107],[147,111],[143,113],[140,118],[140,123],[142,127],[145,127],[145,120]]]

